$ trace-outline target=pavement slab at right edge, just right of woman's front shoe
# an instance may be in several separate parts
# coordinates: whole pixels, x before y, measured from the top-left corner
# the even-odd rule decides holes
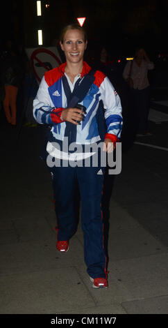
[[[167,269],[168,253],[112,262],[112,274],[126,286],[130,301],[168,295]]]

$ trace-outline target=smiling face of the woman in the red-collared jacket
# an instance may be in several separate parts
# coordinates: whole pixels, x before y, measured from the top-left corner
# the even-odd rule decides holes
[[[61,49],[65,52],[65,57],[69,63],[79,63],[83,61],[87,41],[82,31],[69,29],[65,33],[64,39],[60,42]]]

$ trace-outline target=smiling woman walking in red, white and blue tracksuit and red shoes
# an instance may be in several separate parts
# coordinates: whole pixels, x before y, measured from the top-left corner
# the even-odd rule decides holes
[[[112,145],[119,140],[121,133],[121,103],[106,75],[100,71],[92,73],[90,66],[83,61],[87,47],[83,28],[78,24],[65,27],[60,37],[60,47],[65,53],[66,62],[45,73],[33,102],[36,121],[52,126],[47,137],[47,163],[53,179],[58,219],[57,249],[66,252],[69,249],[69,239],[76,232],[74,193],[78,181],[87,273],[94,288],[106,288],[108,281],[101,216],[105,167],[101,166],[99,157],[96,166],[83,165],[84,158],[92,158],[94,162],[94,152],[85,152],[83,149],[84,146],[94,147],[101,141],[96,114],[102,100],[108,128],[103,150],[111,151]],[[72,105],[74,92],[77,91],[78,99],[80,84],[87,84],[88,77],[91,77],[92,83],[87,93],[78,101],[79,106]],[[76,155],[73,151],[65,151],[65,137],[69,145],[72,142],[75,142],[76,146],[80,145],[81,152]],[[65,159],[67,165],[57,165],[59,161],[55,161],[53,165],[53,161],[49,161],[49,154],[56,160]],[[72,165],[76,161],[78,165]]]

